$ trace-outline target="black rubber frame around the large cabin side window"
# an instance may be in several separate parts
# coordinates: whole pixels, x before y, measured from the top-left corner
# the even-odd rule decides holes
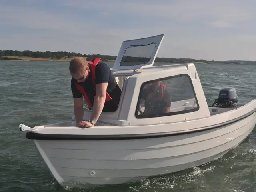
[[[195,100],[196,100],[197,108],[188,109],[188,110],[184,110],[184,111],[176,111],[176,112],[162,113],[162,114],[160,114],[160,115],[158,115],[158,114],[146,114],[146,115],[145,115],[145,114],[138,114],[138,109],[139,109],[140,101],[141,101],[141,93],[142,93],[143,87],[144,87],[146,84],[153,83],[153,82],[157,82],[157,81],[170,80],[170,79],[173,79],[173,78],[178,78],[178,77],[183,77],[183,76],[188,77],[188,80],[189,80],[190,85],[191,85],[192,90],[193,90],[194,98],[195,98]],[[197,99],[197,96],[196,96],[196,92],[195,92],[195,89],[194,89],[194,86],[193,86],[193,83],[192,83],[192,80],[191,80],[190,76],[189,76],[188,74],[178,74],[178,75],[174,75],[174,76],[169,76],[169,77],[164,77],[164,78],[149,80],[149,81],[146,81],[146,82],[142,83],[141,86],[140,86],[140,92],[139,92],[139,94],[138,94],[138,101],[137,101],[136,110],[135,110],[135,117],[136,117],[137,119],[155,118],[155,117],[165,117],[165,116],[172,116],[172,115],[178,115],[178,114],[185,114],[185,113],[195,112],[195,111],[198,111],[199,108],[200,108],[200,106],[199,106],[198,99]]]

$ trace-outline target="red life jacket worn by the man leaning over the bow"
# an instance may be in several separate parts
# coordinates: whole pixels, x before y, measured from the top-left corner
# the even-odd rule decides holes
[[[90,63],[89,63],[89,67],[90,67],[90,72],[91,72],[91,80],[92,80],[92,84],[94,85],[94,88],[96,89],[96,75],[95,75],[95,68],[98,65],[98,63],[100,62],[100,57],[98,58],[94,58]],[[84,91],[84,88],[75,83],[76,84],[76,88],[80,91],[80,93],[84,96],[84,99],[86,100],[86,102],[88,103],[88,105],[90,107],[93,106],[92,102],[90,101],[89,97],[87,96],[86,92]],[[110,95],[108,94],[108,92],[106,92],[106,101],[110,101],[112,98],[110,97]]]

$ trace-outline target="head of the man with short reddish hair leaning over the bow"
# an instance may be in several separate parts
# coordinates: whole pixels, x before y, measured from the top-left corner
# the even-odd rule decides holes
[[[90,68],[84,57],[76,57],[70,61],[69,71],[71,76],[78,82],[84,82],[88,77]]]

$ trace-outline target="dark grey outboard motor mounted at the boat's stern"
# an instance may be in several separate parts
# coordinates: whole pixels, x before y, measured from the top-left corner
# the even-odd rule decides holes
[[[236,89],[233,87],[223,88],[219,92],[218,99],[214,100],[212,107],[227,107],[227,108],[237,108],[238,96]]]

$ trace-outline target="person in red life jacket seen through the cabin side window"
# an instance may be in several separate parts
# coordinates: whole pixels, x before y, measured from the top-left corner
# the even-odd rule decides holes
[[[141,102],[145,100],[145,110],[143,114],[162,114],[170,112],[171,96],[166,85],[161,81],[149,84],[142,91]],[[139,109],[139,112],[141,108]]]

